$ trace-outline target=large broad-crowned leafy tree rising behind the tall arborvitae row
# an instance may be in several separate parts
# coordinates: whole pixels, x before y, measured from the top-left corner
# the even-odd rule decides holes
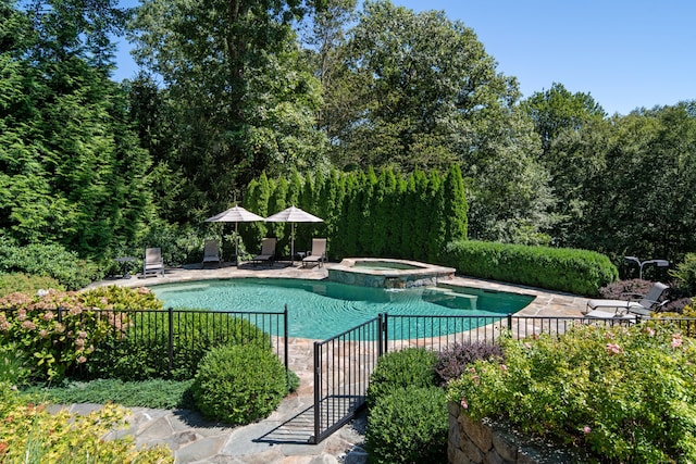
[[[546,241],[552,195],[538,137],[514,105],[515,79],[474,32],[443,12],[370,1],[347,37],[325,88],[332,160],[405,172],[459,164],[473,237]]]

